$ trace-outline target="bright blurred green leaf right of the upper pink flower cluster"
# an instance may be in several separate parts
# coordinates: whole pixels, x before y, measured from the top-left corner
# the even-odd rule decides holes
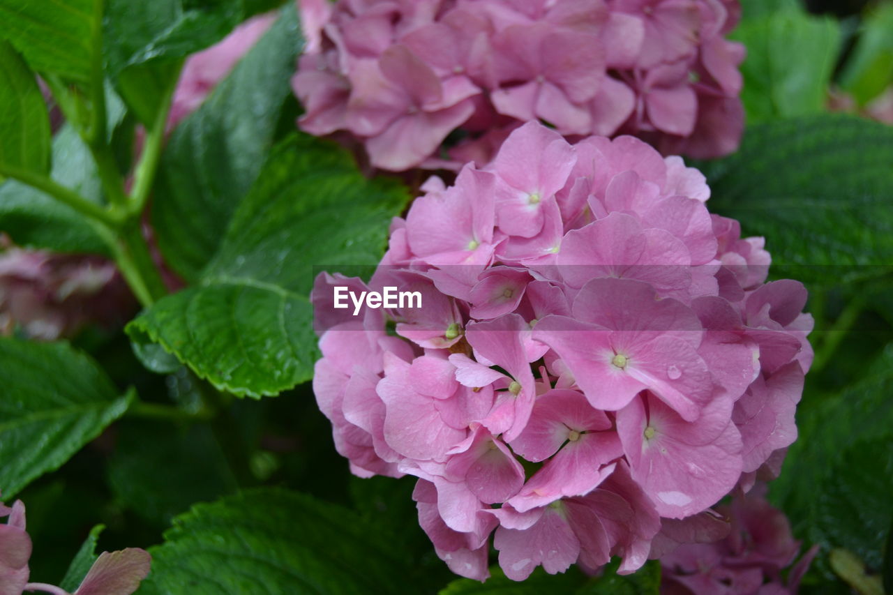
[[[748,124],[824,111],[840,45],[838,21],[802,8],[781,10],[741,22],[730,38],[747,46],[741,100]]]

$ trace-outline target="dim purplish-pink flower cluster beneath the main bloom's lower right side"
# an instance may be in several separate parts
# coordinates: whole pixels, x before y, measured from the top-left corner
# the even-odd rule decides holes
[[[666,595],[788,595],[819,546],[794,564],[800,543],[790,532],[788,518],[764,499],[765,485],[747,496],[736,495],[718,512],[731,521],[729,535],[714,543],[683,545],[661,558],[662,589]],[[793,565],[793,566],[791,566]],[[782,571],[790,566],[787,578]]]

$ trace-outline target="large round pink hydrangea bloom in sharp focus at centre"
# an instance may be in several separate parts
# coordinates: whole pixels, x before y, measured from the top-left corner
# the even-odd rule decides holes
[[[633,572],[796,439],[805,289],[764,283],[763,240],[709,214],[679,157],[530,122],[425,189],[368,285],[317,278],[313,389],[354,473],[419,478],[455,573],[486,578],[491,534],[515,580]],[[421,307],[353,315],[337,286]]]

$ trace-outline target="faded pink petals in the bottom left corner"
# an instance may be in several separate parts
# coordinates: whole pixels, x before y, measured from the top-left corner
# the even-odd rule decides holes
[[[0,502],[0,595],[21,595],[24,591],[41,591],[66,595],[60,587],[45,582],[29,582],[28,561],[31,538],[25,531],[25,505],[16,500],[13,507]],[[149,574],[152,557],[145,549],[128,548],[96,558],[87,575],[72,595],[130,595]]]

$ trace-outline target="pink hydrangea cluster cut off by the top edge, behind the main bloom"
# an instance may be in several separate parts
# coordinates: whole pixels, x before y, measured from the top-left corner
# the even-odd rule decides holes
[[[371,163],[483,164],[508,132],[633,134],[698,158],[738,147],[738,0],[299,0],[303,130],[345,130]]]

